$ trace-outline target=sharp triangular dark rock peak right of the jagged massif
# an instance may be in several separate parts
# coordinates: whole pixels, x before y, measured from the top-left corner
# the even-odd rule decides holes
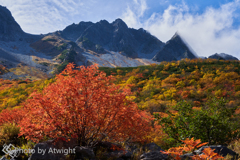
[[[154,57],[154,61],[173,61],[181,60],[183,58],[194,59],[197,58],[189,49],[186,43],[182,40],[179,34],[175,34]]]

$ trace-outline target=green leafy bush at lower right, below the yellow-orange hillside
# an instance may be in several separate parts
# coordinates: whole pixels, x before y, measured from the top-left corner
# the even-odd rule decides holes
[[[237,108],[227,108],[224,99],[213,99],[197,110],[192,104],[182,101],[173,109],[176,114],[168,112],[168,117],[155,116],[176,145],[191,137],[210,145],[227,145],[239,137],[240,126],[235,115]]]

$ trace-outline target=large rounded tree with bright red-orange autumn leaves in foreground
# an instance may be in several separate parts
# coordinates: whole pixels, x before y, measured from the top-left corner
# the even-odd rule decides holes
[[[112,83],[112,76],[96,65],[74,64],[56,76],[56,82],[25,103],[28,110],[20,123],[21,133],[38,142],[44,137],[75,137],[79,145],[97,141],[142,141],[150,131],[151,117],[127,99],[129,89]]]

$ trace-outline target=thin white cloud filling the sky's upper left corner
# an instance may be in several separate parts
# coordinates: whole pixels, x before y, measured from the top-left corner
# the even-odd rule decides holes
[[[94,4],[92,0],[87,3]],[[25,32],[32,34],[62,30],[76,21],[76,15],[81,18],[88,12],[82,0],[0,0],[0,4],[11,11]]]

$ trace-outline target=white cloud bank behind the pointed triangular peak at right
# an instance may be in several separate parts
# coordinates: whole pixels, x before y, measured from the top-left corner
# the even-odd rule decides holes
[[[139,6],[142,2],[135,4]],[[202,14],[193,14],[183,2],[170,5],[162,14],[153,13],[142,23],[137,16],[142,9],[138,7],[136,11],[136,7],[129,7],[123,19],[130,27],[143,27],[164,42],[178,31],[199,56],[225,52],[240,58],[240,27],[232,27],[239,6],[237,0],[217,9],[208,7]]]

